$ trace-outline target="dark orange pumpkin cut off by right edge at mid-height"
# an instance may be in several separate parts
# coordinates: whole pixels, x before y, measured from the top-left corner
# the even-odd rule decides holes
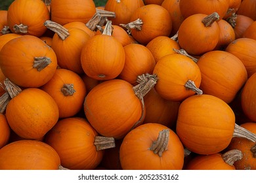
[[[244,111],[245,116],[247,116],[250,120],[253,122],[256,122],[256,115],[255,115],[255,110],[256,110],[256,73],[254,73],[251,77],[248,78],[246,81],[244,88],[242,90],[242,95],[241,95],[241,104],[242,104],[242,109]]]

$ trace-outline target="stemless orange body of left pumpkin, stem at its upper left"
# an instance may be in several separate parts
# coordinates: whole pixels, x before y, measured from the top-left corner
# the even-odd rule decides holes
[[[9,101],[6,116],[17,135],[24,139],[38,139],[58,121],[58,105],[43,90],[26,88]]]

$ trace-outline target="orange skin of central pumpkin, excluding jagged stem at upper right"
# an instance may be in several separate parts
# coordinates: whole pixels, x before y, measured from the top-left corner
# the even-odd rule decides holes
[[[96,85],[85,97],[84,111],[100,135],[116,139],[123,138],[142,116],[133,85],[120,79]]]

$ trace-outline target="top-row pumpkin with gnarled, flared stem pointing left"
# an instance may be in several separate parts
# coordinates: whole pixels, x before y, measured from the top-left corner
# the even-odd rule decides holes
[[[140,44],[148,44],[155,37],[169,36],[172,22],[169,12],[160,5],[144,5],[137,8],[128,24],[121,24]]]

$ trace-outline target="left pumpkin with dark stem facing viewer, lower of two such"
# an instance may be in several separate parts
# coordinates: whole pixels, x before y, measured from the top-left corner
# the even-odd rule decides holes
[[[85,83],[79,75],[68,69],[57,69],[53,78],[41,86],[58,105],[59,118],[77,114],[83,107],[86,95]]]

